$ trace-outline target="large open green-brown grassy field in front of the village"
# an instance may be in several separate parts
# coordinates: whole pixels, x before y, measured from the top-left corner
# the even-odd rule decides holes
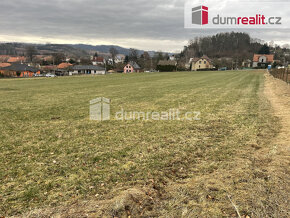
[[[259,71],[0,80],[0,216],[84,200],[98,202],[96,216],[230,216],[229,195],[242,215],[261,214],[251,155],[279,126],[263,83]],[[201,120],[90,121],[96,97],[112,113],[175,108]],[[110,203],[130,188],[143,202]]]

